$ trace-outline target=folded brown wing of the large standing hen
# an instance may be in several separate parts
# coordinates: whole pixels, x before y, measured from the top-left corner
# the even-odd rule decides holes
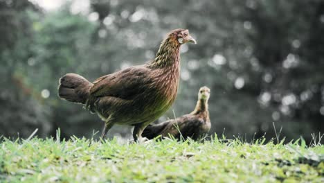
[[[150,69],[136,66],[102,76],[93,82],[90,95],[96,98],[114,96],[132,99],[137,94],[143,93],[143,86],[151,82],[150,73]]]

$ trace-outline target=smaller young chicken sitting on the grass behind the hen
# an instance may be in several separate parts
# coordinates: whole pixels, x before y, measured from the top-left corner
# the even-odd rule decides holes
[[[177,119],[171,119],[157,125],[148,125],[143,131],[143,137],[153,139],[169,137],[172,135],[177,139],[188,137],[197,140],[210,130],[210,119],[208,112],[208,99],[210,89],[201,87],[198,93],[198,101],[195,110]]]

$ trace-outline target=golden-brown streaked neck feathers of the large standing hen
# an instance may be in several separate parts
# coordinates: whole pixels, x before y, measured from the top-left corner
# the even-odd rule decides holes
[[[179,66],[180,62],[180,44],[174,37],[167,37],[161,42],[159,51],[154,60],[147,64],[151,69],[164,69],[168,67]]]

